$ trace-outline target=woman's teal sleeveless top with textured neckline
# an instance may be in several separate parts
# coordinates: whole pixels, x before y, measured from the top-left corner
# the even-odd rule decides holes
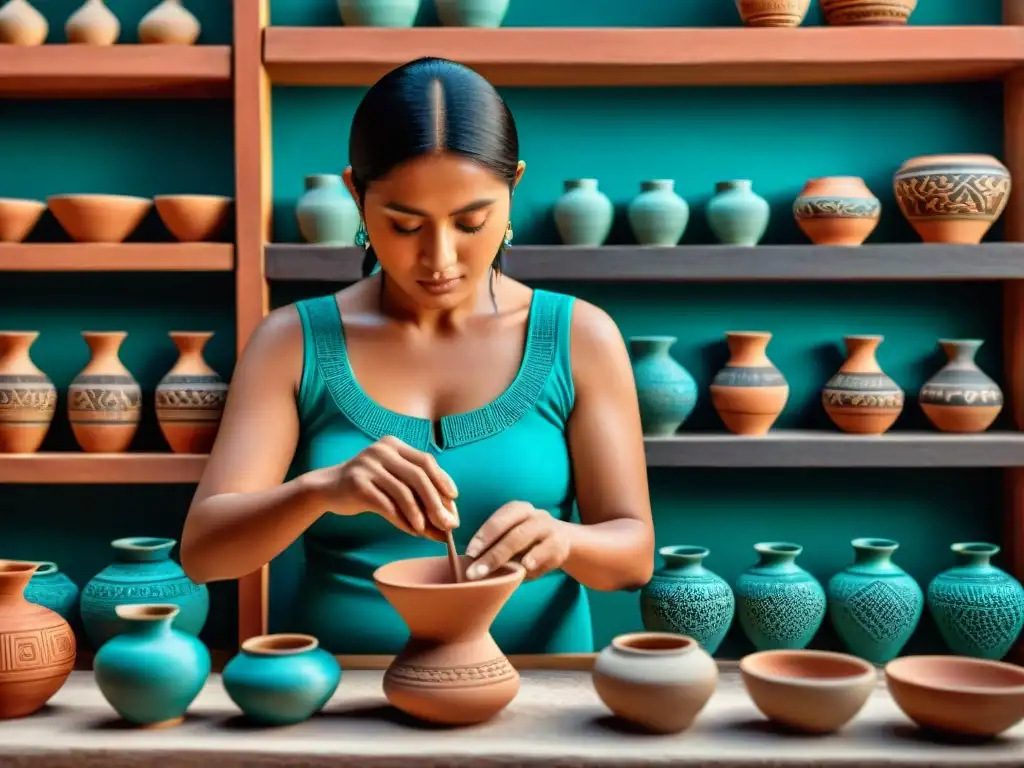
[[[389,411],[355,380],[335,296],[296,304],[304,359],[298,392],[299,444],[290,476],[340,464],[385,435],[431,453],[459,488],[456,545],[510,501],[569,520],[575,501],[565,425],[572,412],[569,329],[573,298],[535,290],[526,344],[511,385],[490,403],[440,420]],[[437,542],[401,532],[375,514],[323,515],[302,538],[305,564],[294,631],[332,653],[397,653],[409,637],[381,596],[374,570],[388,562],[444,554]],[[561,570],[527,581],[492,627],[506,653],[593,651],[586,590]]]

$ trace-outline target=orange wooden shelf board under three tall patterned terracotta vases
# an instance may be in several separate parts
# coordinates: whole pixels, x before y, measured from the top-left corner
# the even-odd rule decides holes
[[[195,483],[206,466],[198,454],[5,454],[0,483]]]

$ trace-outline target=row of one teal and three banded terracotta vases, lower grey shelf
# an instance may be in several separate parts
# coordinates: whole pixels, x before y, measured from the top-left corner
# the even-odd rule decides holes
[[[725,335],[729,359],[711,383],[712,403],[726,429],[764,435],[790,397],[785,377],[768,358],[771,334]],[[821,390],[821,403],[844,432],[884,434],[903,412],[904,392],[879,366],[882,336],[845,337],[847,356]],[[675,434],[693,413],[697,383],[671,354],[675,336],[630,337],[630,356],[644,434]],[[975,362],[979,339],[940,339],[947,362],[918,394],[929,421],[943,432],[983,432],[1002,410],[999,386]]]

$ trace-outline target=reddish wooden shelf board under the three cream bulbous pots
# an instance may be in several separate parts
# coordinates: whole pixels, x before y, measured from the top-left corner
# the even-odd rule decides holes
[[[228,45],[0,45],[7,98],[223,98]]]

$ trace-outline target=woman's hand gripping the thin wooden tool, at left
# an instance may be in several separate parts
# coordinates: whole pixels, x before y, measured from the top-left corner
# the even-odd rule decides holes
[[[382,437],[344,464],[309,472],[307,482],[335,514],[374,512],[411,536],[443,542],[458,527],[455,481],[430,454]]]

